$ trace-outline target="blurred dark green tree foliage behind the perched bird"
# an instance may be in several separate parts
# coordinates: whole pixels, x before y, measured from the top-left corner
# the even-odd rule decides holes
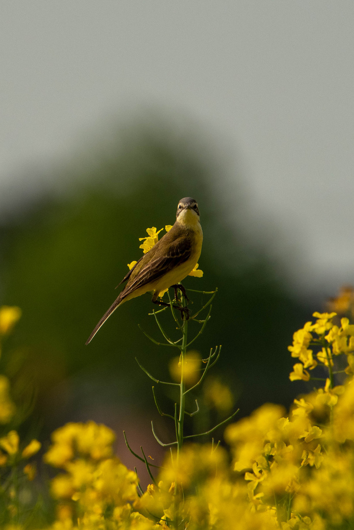
[[[252,250],[227,221],[227,205],[237,208],[240,198],[223,201],[228,190],[222,167],[207,164],[191,146],[184,149],[188,140],[172,145],[163,136],[128,135],[117,154],[102,152],[90,169],[80,169],[78,161],[65,170],[72,171],[66,195],[38,200],[1,228],[2,303],[23,310],[2,362],[19,393],[31,384],[38,388],[37,415],[48,430],[90,415],[112,423],[102,412],[112,404],[131,414],[148,411],[148,425],[151,381],[135,356],[165,378],[176,355],[138,329],[141,324],[157,335],[147,315],[154,307],[149,295],[120,307],[89,346],[85,340],[117,296],[114,287],[127,263],[139,259],[138,238],[147,227],[173,224],[185,196],[199,202],[204,276],[184,285],[218,287],[211,321],[193,346],[206,357],[210,347],[223,345],[216,373],[231,386],[242,416],[265,401],[288,404],[298,391],[288,380],[287,345],[304,309],[289,297],[267,255]],[[190,298],[197,304],[197,295]]]

